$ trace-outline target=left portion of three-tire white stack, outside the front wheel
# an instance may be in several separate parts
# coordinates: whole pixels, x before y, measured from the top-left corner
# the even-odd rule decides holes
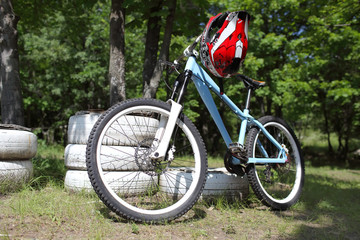
[[[71,116],[65,148],[65,188],[73,191],[90,191],[92,186],[86,169],[86,144],[100,112],[82,111]]]

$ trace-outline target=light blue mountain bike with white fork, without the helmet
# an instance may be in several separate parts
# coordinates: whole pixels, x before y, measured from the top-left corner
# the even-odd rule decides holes
[[[244,110],[224,94],[196,62],[199,37],[182,57],[186,66],[167,102],[130,99],[102,114],[87,144],[86,164],[92,186],[116,214],[140,222],[165,222],[182,216],[199,199],[207,178],[207,152],[182,102],[193,82],[227,146],[230,173],[247,175],[255,195],[267,206],[285,210],[295,204],[304,184],[300,144],[282,119],[250,115],[252,93],[265,85],[244,75],[248,94]],[[179,71],[179,59],[166,62]],[[212,91],[240,119],[236,141],[230,138]]]

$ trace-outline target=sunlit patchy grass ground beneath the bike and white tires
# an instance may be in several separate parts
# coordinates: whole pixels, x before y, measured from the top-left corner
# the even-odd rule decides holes
[[[199,202],[163,225],[128,222],[96,195],[64,190],[63,148],[39,145],[35,179],[0,194],[0,239],[359,239],[360,170],[306,166],[301,200],[288,211],[245,202]],[[221,166],[221,159],[211,160]]]

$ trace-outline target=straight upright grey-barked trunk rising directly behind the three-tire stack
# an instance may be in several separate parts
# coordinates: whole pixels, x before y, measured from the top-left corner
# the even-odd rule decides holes
[[[110,105],[126,99],[125,93],[125,9],[124,0],[111,1],[110,13]]]

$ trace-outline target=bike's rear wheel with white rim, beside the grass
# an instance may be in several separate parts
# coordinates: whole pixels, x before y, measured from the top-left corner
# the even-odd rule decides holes
[[[255,195],[267,206],[285,210],[300,198],[304,185],[304,160],[300,144],[286,122],[273,116],[259,119],[265,129],[280,143],[287,154],[284,164],[249,164],[247,175]],[[249,157],[270,158],[279,156],[279,149],[258,128],[252,128],[246,138]]]

